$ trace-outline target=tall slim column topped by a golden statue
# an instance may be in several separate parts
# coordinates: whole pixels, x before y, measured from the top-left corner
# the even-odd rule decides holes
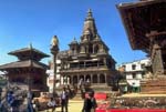
[[[56,35],[53,35],[51,40],[51,53],[53,55],[53,96],[55,95],[55,82],[56,82],[56,55],[59,52],[59,40]]]

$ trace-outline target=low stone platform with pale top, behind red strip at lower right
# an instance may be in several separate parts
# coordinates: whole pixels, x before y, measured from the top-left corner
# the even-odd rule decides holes
[[[164,109],[166,110],[166,94],[129,93],[117,96],[114,106],[124,109]]]

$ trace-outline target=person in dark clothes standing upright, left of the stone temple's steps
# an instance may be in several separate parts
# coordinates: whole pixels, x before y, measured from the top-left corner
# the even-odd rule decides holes
[[[68,103],[69,103],[69,92],[65,88],[63,88],[62,94],[61,94],[61,112],[68,112]]]

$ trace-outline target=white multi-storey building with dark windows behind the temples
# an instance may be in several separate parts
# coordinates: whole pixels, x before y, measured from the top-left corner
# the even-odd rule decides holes
[[[122,63],[120,68],[123,68],[123,73],[127,82],[128,92],[139,92],[141,81],[145,78],[146,67],[151,65],[151,59],[142,59],[133,62]]]

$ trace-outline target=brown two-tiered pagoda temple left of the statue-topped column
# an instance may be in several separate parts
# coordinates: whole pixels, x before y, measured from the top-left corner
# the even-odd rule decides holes
[[[23,48],[9,52],[15,55],[19,61],[0,65],[1,71],[6,71],[9,85],[25,85],[24,89],[32,92],[48,91],[46,74],[48,65],[40,60],[49,57],[48,54],[32,48]]]

